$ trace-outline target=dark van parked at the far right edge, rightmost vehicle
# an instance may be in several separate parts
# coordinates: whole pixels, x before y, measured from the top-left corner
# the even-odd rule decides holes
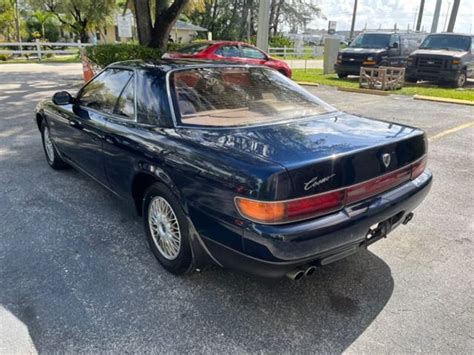
[[[455,87],[474,78],[474,36],[436,33],[425,38],[410,54],[406,81],[429,80],[451,83]]]

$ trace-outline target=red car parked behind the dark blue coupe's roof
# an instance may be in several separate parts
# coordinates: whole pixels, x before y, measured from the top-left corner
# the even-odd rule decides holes
[[[291,78],[291,68],[283,60],[270,57],[248,43],[235,41],[209,41],[194,43],[176,52],[166,53],[164,59],[205,59],[247,64],[260,64],[278,70]]]

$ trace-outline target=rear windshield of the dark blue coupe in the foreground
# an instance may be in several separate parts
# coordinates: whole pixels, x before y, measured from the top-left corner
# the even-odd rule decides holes
[[[183,125],[231,127],[319,115],[334,109],[275,70],[203,67],[170,76]]]

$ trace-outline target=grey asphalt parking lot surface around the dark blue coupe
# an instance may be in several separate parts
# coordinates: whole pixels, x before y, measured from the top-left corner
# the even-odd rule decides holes
[[[310,87],[427,132],[435,181],[413,221],[298,282],[178,278],[132,208],[44,159],[35,105],[80,81],[80,64],[0,66],[0,353],[472,352],[474,106]]]

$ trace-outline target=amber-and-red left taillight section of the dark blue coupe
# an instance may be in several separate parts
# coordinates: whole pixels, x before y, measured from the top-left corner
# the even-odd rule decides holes
[[[342,208],[344,191],[333,191],[296,200],[265,202],[236,197],[240,214],[251,221],[267,224],[294,222]]]

